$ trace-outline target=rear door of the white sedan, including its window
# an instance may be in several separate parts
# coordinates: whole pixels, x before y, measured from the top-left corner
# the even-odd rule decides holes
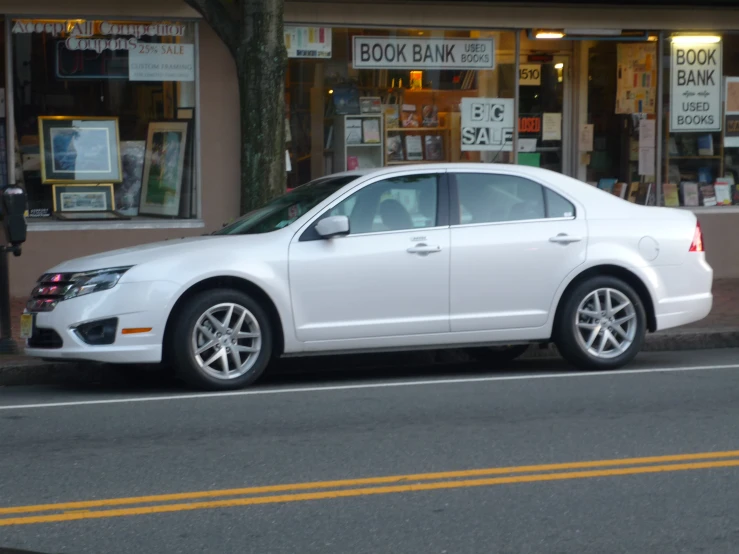
[[[506,173],[449,174],[452,331],[544,325],[564,279],[584,263],[582,209]]]

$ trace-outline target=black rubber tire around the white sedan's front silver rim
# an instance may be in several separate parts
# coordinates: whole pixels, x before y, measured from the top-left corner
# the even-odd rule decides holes
[[[221,304],[235,304],[244,308],[258,325],[261,340],[259,352],[256,353],[256,359],[253,360],[248,371],[243,375],[230,378],[226,378],[225,374],[220,378],[216,377],[212,372],[201,367],[192,347],[193,332],[198,320],[208,310]],[[191,387],[211,391],[241,389],[259,379],[267,368],[272,358],[272,336],[273,331],[269,317],[267,317],[262,306],[249,295],[233,289],[204,291],[187,300],[187,303],[176,315],[175,325],[168,345],[169,359],[172,361],[171,363],[180,378]],[[216,340],[220,341],[220,339]],[[249,341],[250,339],[243,340]],[[219,350],[223,348],[225,350],[227,346],[225,344],[217,344],[216,348]],[[204,354],[208,356],[209,352],[206,351]],[[215,352],[216,350],[212,351],[212,353]],[[229,360],[229,364],[233,363],[230,357],[227,359]]]

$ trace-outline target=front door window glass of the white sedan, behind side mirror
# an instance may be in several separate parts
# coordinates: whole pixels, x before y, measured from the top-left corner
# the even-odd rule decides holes
[[[367,185],[327,215],[349,218],[350,234],[436,226],[438,175],[408,175]]]

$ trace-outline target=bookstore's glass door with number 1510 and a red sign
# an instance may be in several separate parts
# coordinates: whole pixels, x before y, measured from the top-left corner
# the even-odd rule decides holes
[[[513,65],[513,56],[501,65]],[[570,56],[519,60],[518,163],[572,175]]]

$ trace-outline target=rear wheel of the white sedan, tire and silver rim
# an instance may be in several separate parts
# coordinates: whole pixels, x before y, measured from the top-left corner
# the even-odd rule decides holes
[[[636,291],[621,279],[588,279],[563,302],[554,341],[568,362],[581,369],[618,369],[641,350],[646,312]]]

